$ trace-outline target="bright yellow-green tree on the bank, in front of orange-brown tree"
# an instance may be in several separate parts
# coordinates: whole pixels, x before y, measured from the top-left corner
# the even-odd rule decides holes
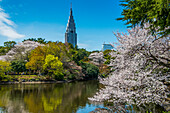
[[[47,55],[43,69],[48,71],[48,74],[57,80],[64,78],[63,63],[54,55]]]

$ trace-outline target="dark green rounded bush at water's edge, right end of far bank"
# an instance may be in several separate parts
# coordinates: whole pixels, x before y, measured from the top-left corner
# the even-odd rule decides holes
[[[90,63],[80,63],[81,67],[83,68],[83,73],[86,75],[86,78],[97,78],[99,74],[99,68]]]

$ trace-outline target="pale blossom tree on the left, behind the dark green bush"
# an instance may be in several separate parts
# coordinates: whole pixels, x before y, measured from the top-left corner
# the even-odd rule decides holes
[[[22,43],[18,43],[6,55],[0,56],[0,59],[7,61],[16,59],[27,60],[31,50],[38,46],[43,46],[43,44],[34,41],[24,41]]]

